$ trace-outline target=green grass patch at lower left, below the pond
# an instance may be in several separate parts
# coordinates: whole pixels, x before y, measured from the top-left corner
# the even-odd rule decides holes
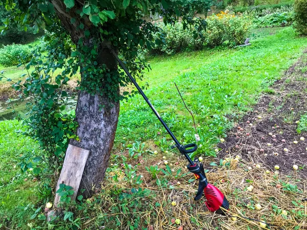
[[[0,122],[0,227],[6,220],[14,223],[14,229],[24,228],[33,214],[27,205],[38,201],[33,176],[21,173],[18,167],[22,155],[39,151],[30,137],[19,133],[24,129],[17,120]]]

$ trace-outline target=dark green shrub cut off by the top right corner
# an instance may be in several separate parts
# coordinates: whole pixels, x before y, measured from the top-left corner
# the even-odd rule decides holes
[[[307,35],[307,0],[295,0],[294,13],[294,28]]]

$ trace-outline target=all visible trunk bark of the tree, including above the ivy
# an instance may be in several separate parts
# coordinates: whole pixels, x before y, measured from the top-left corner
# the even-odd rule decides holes
[[[61,25],[70,34],[75,44],[78,43],[79,38],[84,38],[84,33],[79,29],[81,24],[84,25],[84,30],[91,31],[93,25],[89,23],[87,17],[80,18],[74,11],[67,11],[62,0],[51,0],[51,3]],[[75,7],[82,8],[82,5],[79,5],[75,1]],[[72,18],[76,18],[74,23],[71,21]],[[83,39],[83,42],[91,44],[92,40],[91,37],[87,37]],[[97,62],[100,65],[105,64],[109,70],[116,70],[117,62],[104,44],[99,45],[98,53]],[[83,78],[81,73],[81,82]],[[117,94],[119,94],[119,86]],[[101,187],[114,144],[118,116],[118,101],[112,101],[107,95],[92,95],[86,91],[80,91],[76,106],[76,121],[79,124],[77,135],[80,141],[71,140],[70,144],[90,151],[78,192],[80,194],[80,191],[84,189],[83,196],[89,197]]]

